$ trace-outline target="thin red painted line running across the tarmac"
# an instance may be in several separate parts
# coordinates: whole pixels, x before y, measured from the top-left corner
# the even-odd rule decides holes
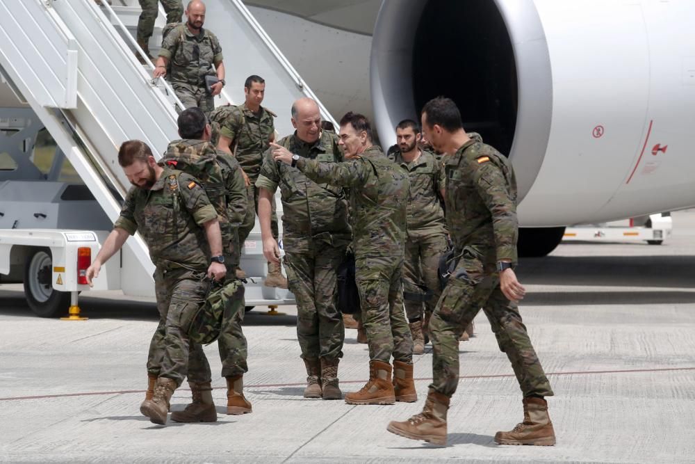
[[[549,372],[546,376],[584,376],[596,374],[632,374],[635,372],[676,372],[676,371],[695,371],[695,367],[664,367],[662,369],[619,369],[612,371],[568,371],[568,372]],[[489,376],[459,376],[459,380],[464,378],[506,378],[515,377],[514,374],[493,374]],[[414,381],[431,381],[432,377],[414,378]],[[341,381],[341,383],[366,383],[362,381]],[[301,383],[264,383],[259,385],[244,385],[246,388],[279,388],[279,387],[300,387],[306,385]],[[215,387],[213,390],[227,390],[227,387]],[[84,392],[84,393],[63,393],[63,394],[41,394],[32,397],[8,397],[0,398],[0,401],[16,401],[20,399],[48,399],[48,398],[67,398],[67,397],[90,397],[99,394],[128,394],[145,393],[147,390],[116,390],[113,392]],[[190,392],[188,388],[177,388],[177,391]]]

